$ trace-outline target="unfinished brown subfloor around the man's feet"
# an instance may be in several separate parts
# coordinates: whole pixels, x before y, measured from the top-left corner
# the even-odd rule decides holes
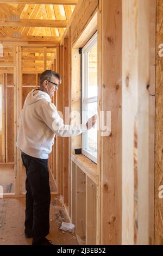
[[[0,200],[0,245],[31,245],[32,239],[24,237],[25,197]],[[47,236],[54,245],[78,245],[76,236],[61,231],[61,222],[69,222],[59,198],[52,195],[50,233]]]

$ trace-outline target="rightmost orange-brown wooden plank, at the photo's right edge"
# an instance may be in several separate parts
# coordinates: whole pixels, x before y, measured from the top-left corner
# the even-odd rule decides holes
[[[163,245],[163,221],[162,221],[162,149],[163,149],[163,130],[162,130],[162,103],[163,103],[163,77],[162,65],[163,58],[159,56],[159,45],[162,44],[162,22],[163,22],[163,2],[156,1],[156,88],[155,88],[155,203],[154,203],[154,244]]]

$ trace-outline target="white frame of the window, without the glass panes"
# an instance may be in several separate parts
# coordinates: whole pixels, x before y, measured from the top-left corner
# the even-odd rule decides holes
[[[86,111],[85,104],[97,102],[97,96],[87,98],[87,88],[85,84],[87,84],[87,58],[85,58],[85,54],[91,50],[91,48],[97,43],[97,32],[92,36],[92,38],[87,42],[87,44],[82,49],[82,112]],[[83,95],[85,97],[83,97]],[[82,114],[82,124],[86,123],[86,116]],[[93,156],[86,150],[85,148],[85,140],[87,140],[87,132],[82,133],[82,154],[88,157],[93,162],[97,163],[97,157]]]

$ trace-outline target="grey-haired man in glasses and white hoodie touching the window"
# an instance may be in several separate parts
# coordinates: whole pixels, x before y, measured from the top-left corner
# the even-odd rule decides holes
[[[40,89],[30,92],[20,116],[16,146],[22,151],[26,167],[26,237],[33,237],[32,245],[51,245],[46,239],[49,233],[49,187],[48,155],[52,151],[55,135],[69,137],[79,135],[96,123],[93,116],[86,125],[65,125],[51,97],[58,90],[61,77],[52,70],[40,76]]]

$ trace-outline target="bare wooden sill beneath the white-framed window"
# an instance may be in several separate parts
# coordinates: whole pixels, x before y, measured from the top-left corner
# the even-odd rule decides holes
[[[97,164],[84,155],[71,154],[71,160],[98,185]]]

